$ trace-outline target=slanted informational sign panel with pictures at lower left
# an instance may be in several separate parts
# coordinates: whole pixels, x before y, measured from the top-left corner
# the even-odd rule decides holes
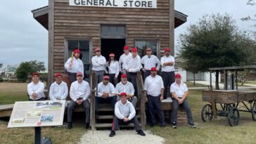
[[[8,128],[63,125],[65,100],[15,102]]]

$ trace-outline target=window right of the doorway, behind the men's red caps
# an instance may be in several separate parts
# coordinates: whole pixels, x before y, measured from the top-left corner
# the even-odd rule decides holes
[[[152,48],[152,54],[158,56],[157,40],[136,40],[135,46],[138,49],[138,55],[142,58],[146,55],[146,48]]]

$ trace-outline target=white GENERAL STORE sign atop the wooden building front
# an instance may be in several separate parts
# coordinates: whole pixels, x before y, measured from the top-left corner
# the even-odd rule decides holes
[[[157,0],[70,0],[70,6],[156,8]]]

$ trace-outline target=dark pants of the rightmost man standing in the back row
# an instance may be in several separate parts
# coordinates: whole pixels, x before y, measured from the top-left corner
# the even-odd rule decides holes
[[[175,74],[174,72],[162,72],[162,81],[164,82],[165,91],[164,91],[164,99],[166,99],[168,96],[168,87],[172,85],[172,83],[175,82]]]

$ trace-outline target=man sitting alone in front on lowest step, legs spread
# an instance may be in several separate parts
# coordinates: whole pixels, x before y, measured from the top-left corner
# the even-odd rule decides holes
[[[112,131],[109,136],[115,136],[115,130],[119,129],[119,124],[127,125],[130,123],[134,124],[135,131],[139,135],[146,136],[141,130],[141,126],[139,126],[134,106],[127,100],[127,93],[120,93],[120,99],[121,100],[115,104],[115,116],[113,119]]]

